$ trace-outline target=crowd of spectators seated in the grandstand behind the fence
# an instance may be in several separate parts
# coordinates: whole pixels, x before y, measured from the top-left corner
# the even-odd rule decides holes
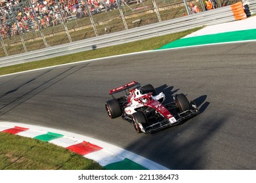
[[[17,35],[18,27],[20,33],[26,33],[88,16],[85,2],[91,14],[117,8],[116,0],[0,0],[1,36]]]

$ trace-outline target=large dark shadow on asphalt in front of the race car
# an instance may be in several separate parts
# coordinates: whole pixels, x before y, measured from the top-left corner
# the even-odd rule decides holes
[[[196,119],[192,123],[142,135],[126,149],[169,169],[213,169],[214,159],[209,158],[210,146],[214,146],[214,139],[223,127],[226,117],[208,118],[211,123]]]

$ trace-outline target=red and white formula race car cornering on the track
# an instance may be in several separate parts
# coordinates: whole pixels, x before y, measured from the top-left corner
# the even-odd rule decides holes
[[[120,93],[119,97],[116,96]],[[113,99],[105,107],[110,118],[121,116],[133,124],[138,133],[152,133],[171,125],[177,125],[198,114],[196,103],[188,101],[183,93],[164,103],[165,94],[157,94],[151,84],[140,87],[136,81],[110,90]]]

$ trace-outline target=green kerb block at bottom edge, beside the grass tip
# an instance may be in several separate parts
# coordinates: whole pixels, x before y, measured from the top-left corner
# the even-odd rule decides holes
[[[127,158],[123,159],[123,161],[110,163],[104,166],[104,168],[107,170],[148,170],[145,167],[142,167],[142,165],[139,165]]]

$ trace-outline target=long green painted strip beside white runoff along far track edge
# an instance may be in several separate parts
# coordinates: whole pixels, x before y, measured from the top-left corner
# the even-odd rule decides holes
[[[179,48],[183,46],[196,46],[201,44],[212,44],[219,42],[248,41],[256,40],[256,29],[244,31],[232,31],[227,33],[217,33],[213,35],[202,35],[197,37],[188,37],[177,41],[169,42],[162,46],[161,49]]]

